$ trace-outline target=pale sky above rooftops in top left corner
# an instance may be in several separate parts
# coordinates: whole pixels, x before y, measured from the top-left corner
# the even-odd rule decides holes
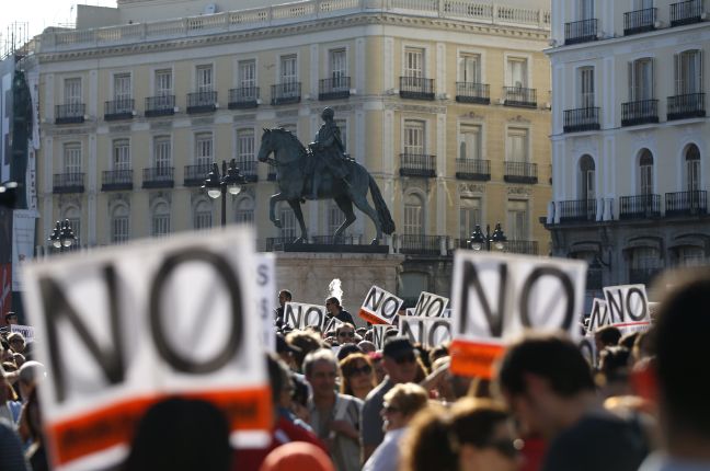
[[[32,37],[47,26],[73,23],[77,4],[116,7],[116,0],[0,0],[0,34],[3,39],[13,22],[26,22]]]

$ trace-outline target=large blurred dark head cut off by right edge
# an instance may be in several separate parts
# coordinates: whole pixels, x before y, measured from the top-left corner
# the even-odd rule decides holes
[[[666,412],[668,434],[684,430],[708,439],[710,407],[702,371],[707,371],[710,357],[710,271],[691,276],[678,283],[661,303],[653,342],[660,404]]]

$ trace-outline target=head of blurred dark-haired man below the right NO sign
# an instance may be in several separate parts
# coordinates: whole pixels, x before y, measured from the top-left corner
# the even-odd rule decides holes
[[[562,404],[580,402],[595,391],[577,346],[556,335],[528,335],[511,345],[499,365],[497,382],[527,432],[548,437],[568,425]]]

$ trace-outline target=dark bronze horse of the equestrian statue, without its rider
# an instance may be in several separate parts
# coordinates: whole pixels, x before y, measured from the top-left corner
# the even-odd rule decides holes
[[[274,159],[268,156],[274,153]],[[284,128],[264,129],[261,148],[257,159],[260,162],[268,162],[276,166],[276,183],[278,193],[272,195],[268,200],[268,218],[277,228],[282,227],[280,220],[276,219],[275,206],[278,202],[287,202],[294,209],[294,215],[300,226],[301,236],[295,242],[308,242],[308,230],[304,222],[304,214],[300,205],[305,202],[306,195],[311,195],[312,175],[308,169],[312,169],[312,159],[319,159],[312,151],[306,150],[298,138]],[[371,244],[379,244],[382,232],[391,234],[394,232],[394,221],[387,209],[382,194],[377,183],[367,170],[355,161],[348,161],[348,183],[337,179],[324,169],[321,174],[320,184],[316,195],[318,199],[334,199],[337,207],[345,214],[345,221],[335,230],[334,239],[337,240],[343,231],[355,221],[353,205],[365,212],[375,222],[377,236]],[[318,169],[316,170],[318,171]],[[367,202],[369,188],[375,208]]]

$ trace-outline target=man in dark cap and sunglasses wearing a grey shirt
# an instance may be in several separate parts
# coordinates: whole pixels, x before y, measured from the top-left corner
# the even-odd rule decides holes
[[[416,377],[416,355],[409,338],[394,336],[385,341],[382,366],[387,376],[367,394],[363,406],[363,462],[367,461],[385,438],[381,416],[385,394],[394,384],[412,382]]]

